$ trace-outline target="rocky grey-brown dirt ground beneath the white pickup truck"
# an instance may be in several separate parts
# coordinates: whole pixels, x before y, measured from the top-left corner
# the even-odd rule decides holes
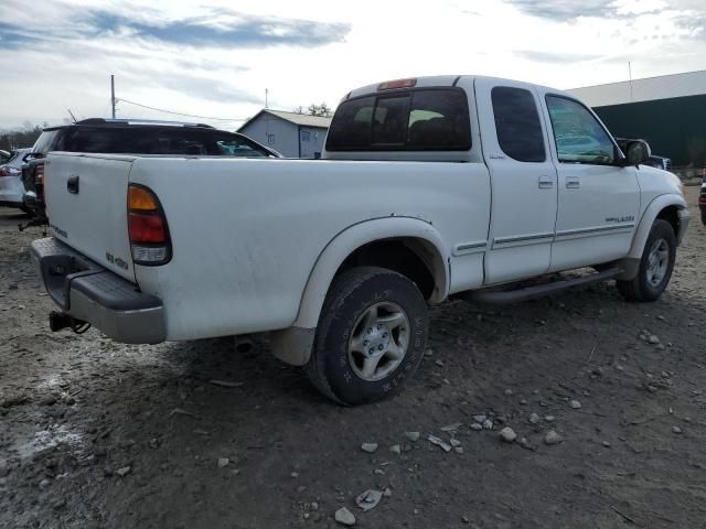
[[[625,303],[606,283],[503,309],[443,304],[406,390],[354,409],[265,344],[51,333],[28,253],[41,230],[20,234],[23,217],[1,209],[0,527],[327,528],[347,507],[361,528],[706,528],[696,193],[661,301]],[[479,414],[492,430],[471,428]],[[500,439],[505,425],[516,442]],[[546,444],[549,430],[563,442]]]

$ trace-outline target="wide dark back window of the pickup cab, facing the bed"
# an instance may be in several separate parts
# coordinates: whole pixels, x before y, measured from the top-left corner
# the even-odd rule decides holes
[[[466,94],[415,89],[344,101],[333,117],[330,151],[466,151],[471,148]]]

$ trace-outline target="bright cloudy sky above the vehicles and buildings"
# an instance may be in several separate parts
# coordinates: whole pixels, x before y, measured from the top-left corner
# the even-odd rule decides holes
[[[0,0],[0,129],[109,117],[111,74],[118,117],[233,130],[266,89],[293,110],[420,75],[598,85],[629,62],[706,69],[706,1]]]

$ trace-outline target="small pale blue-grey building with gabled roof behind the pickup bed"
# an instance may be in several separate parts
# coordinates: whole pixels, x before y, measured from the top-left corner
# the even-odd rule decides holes
[[[238,132],[287,158],[319,158],[331,118],[264,108]]]

